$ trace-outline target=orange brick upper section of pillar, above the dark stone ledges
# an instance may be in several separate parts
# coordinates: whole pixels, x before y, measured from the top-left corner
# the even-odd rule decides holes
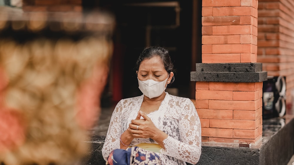
[[[256,63],[257,2],[202,1],[203,63]]]

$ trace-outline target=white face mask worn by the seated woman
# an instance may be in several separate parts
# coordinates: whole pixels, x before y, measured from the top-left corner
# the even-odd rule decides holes
[[[154,80],[141,81],[138,79],[139,89],[145,96],[149,97],[150,99],[153,97],[158,97],[166,89],[165,85],[166,85],[167,79],[168,78],[160,82],[154,81]]]

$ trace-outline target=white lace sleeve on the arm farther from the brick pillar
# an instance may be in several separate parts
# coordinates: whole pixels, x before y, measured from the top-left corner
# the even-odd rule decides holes
[[[121,111],[122,111],[122,100],[118,102],[113,110],[108,131],[106,134],[105,142],[102,148],[102,155],[104,160],[107,159],[108,155],[114,149],[120,148],[119,137],[122,134],[121,128]]]

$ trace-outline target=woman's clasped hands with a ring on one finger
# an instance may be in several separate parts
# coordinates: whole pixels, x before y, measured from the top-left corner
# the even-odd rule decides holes
[[[141,116],[143,119],[141,119]],[[128,130],[134,138],[151,138],[156,135],[156,130],[152,120],[142,111],[138,111],[136,119],[133,119],[129,124]]]

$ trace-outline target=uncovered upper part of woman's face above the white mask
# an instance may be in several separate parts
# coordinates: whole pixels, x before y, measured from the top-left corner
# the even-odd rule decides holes
[[[145,59],[141,62],[139,70],[137,71],[138,79],[163,81],[168,78],[168,83],[171,82],[173,72],[168,75],[168,72],[164,69],[163,62],[160,57],[154,56],[150,59]],[[168,77],[169,76],[169,77]],[[167,83],[167,84],[168,84]]]

